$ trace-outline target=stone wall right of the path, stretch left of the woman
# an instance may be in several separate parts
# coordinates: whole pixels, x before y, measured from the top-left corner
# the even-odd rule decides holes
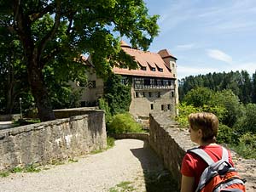
[[[180,184],[183,156],[193,147],[188,132],[178,128],[175,121],[163,114],[150,114],[149,125],[149,144]]]

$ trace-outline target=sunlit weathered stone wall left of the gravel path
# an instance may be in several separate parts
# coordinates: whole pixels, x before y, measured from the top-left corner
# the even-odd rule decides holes
[[[102,110],[84,110],[64,119],[0,130],[0,170],[65,160],[107,147]],[[64,112],[62,112],[64,114]]]

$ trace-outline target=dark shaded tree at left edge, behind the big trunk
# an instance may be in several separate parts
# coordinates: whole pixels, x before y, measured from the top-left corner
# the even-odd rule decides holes
[[[12,38],[8,31],[5,32],[7,37],[0,36],[0,112],[10,114],[17,112],[13,109],[21,96],[26,98],[26,104],[29,89],[20,42]]]

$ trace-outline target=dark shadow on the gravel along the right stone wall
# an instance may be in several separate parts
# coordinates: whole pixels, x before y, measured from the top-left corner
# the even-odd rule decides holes
[[[141,162],[147,192],[178,192],[178,186],[171,172],[163,167],[163,162],[144,141],[143,148],[131,149]]]

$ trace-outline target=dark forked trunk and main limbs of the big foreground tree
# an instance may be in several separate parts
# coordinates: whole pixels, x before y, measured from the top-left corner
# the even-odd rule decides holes
[[[28,82],[32,89],[32,95],[36,101],[38,108],[38,116],[41,121],[54,120],[55,115],[52,110],[51,103],[47,94],[47,88],[44,83],[43,69],[44,64],[41,63],[41,56],[44,53],[46,44],[55,36],[56,31],[61,23],[61,0],[55,0],[55,23],[51,30],[46,32],[44,37],[35,39],[32,35],[32,23],[51,10],[50,6],[39,10],[36,13],[24,12],[20,0],[15,0],[12,4],[15,19],[15,30],[23,44],[24,52],[27,60]]]

